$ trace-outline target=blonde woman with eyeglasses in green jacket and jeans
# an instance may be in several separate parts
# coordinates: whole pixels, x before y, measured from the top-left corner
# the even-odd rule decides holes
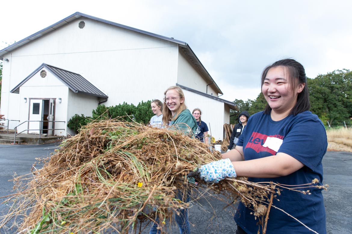
[[[184,102],[183,91],[178,86],[171,86],[164,92],[163,124],[169,125],[171,128],[175,128],[191,138],[195,137],[197,121],[189,109],[187,109],[186,103]],[[186,194],[179,191],[176,198],[183,202],[189,202],[190,190],[187,190]],[[180,234],[190,234],[188,208],[177,209],[175,212],[175,221],[180,229]],[[158,222],[159,219],[156,217],[155,222],[150,229],[150,234],[160,233],[160,230],[157,229]]]

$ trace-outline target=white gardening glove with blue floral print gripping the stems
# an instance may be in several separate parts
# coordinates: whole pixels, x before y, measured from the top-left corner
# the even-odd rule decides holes
[[[230,159],[221,159],[219,161],[209,162],[197,168],[196,173],[191,172],[188,177],[198,176],[205,182],[218,183],[225,178],[236,177],[236,171]]]

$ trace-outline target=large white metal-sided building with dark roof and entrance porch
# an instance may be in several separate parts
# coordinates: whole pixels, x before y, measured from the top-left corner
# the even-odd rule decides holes
[[[218,98],[220,88],[186,42],[80,12],[0,50],[0,59],[1,114],[20,122],[62,121],[47,126],[55,128],[48,134],[73,134],[68,120],[90,116],[99,103],[162,100],[165,89],[176,84],[188,108],[202,110],[216,140],[223,139],[230,109],[237,109]],[[18,131],[39,127],[26,122]],[[32,132],[39,133],[24,133]]]

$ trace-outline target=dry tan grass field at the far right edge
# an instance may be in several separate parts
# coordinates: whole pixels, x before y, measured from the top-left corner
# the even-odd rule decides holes
[[[329,151],[352,152],[352,128],[327,129]]]

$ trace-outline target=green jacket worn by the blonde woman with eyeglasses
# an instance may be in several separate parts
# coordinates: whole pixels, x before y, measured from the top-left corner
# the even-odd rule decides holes
[[[189,109],[183,110],[178,115],[177,119],[171,121],[170,125],[174,125],[175,128],[182,131],[184,135],[191,135],[192,138],[195,137],[197,121]]]

